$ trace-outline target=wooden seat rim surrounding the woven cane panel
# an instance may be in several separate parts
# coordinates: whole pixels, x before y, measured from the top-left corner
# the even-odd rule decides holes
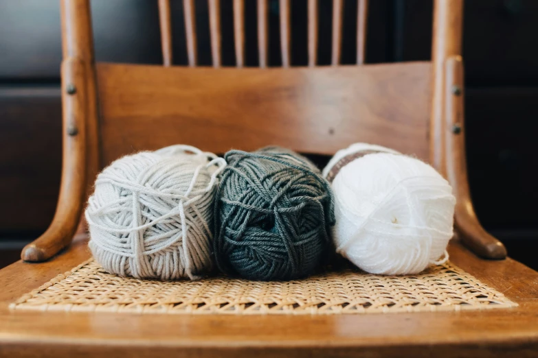
[[[10,311],[10,302],[89,257],[67,252],[0,270],[1,357],[535,357],[538,272],[449,246],[451,261],[519,303],[514,309],[370,315],[137,315]]]

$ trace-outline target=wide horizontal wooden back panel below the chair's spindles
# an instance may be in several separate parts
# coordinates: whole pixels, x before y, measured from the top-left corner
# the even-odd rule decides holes
[[[98,64],[97,73],[105,164],[176,143],[334,154],[364,141],[427,158],[427,62],[218,71]]]

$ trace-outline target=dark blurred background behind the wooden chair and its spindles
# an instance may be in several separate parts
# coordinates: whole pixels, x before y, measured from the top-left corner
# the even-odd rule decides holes
[[[292,64],[306,65],[306,0],[292,3]],[[270,65],[280,65],[271,0]],[[199,62],[211,64],[207,1],[197,1]],[[258,64],[256,1],[245,1],[246,63]],[[355,61],[356,0],[345,2],[342,62]],[[330,61],[330,0],[320,0],[319,64]],[[182,3],[172,1],[175,64],[186,64]],[[156,0],[93,0],[96,59],[161,63]],[[232,0],[221,1],[223,64],[234,65]],[[370,0],[366,60],[429,60],[431,0]],[[538,269],[538,1],[468,0],[464,10],[467,155],[473,202],[508,254]],[[60,184],[58,0],[0,1],[0,267],[54,214]]]

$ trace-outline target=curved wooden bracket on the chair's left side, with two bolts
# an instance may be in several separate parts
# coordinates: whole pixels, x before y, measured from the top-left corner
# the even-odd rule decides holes
[[[56,213],[41,237],[21,253],[24,261],[45,261],[71,243],[86,191],[86,83],[81,60],[62,62],[63,163]]]

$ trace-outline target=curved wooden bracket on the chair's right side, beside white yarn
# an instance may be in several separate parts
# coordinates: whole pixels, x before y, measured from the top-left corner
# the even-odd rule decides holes
[[[456,195],[455,226],[461,234],[462,242],[475,254],[485,259],[504,259],[506,248],[482,228],[469,192],[464,137],[462,58],[448,58],[445,66],[445,158],[447,177]]]

